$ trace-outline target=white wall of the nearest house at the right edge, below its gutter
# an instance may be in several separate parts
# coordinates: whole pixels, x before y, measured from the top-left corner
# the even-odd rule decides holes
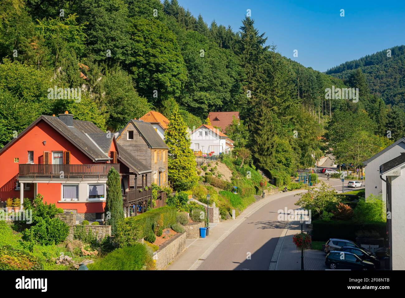
[[[405,169],[392,176],[392,269],[405,270]]]

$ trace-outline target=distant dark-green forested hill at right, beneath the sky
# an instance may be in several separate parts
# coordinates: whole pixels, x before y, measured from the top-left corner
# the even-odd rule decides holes
[[[404,108],[405,45],[347,61],[330,68],[326,73],[345,81],[357,68],[360,68],[366,76],[371,93],[382,97],[386,104],[399,105]]]

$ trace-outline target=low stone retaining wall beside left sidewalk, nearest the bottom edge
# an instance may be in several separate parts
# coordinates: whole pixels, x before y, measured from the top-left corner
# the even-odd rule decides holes
[[[172,262],[177,255],[185,249],[186,233],[179,233],[173,236],[169,241],[163,243],[162,247],[156,251],[153,259],[156,261],[156,270],[162,270]]]

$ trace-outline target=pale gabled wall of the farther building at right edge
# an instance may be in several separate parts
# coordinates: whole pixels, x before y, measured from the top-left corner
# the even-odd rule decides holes
[[[370,194],[373,194],[375,196],[382,194],[382,198],[384,202],[386,202],[386,185],[385,182],[380,179],[379,166],[401,155],[401,152],[405,152],[405,143],[403,142],[392,147],[390,150],[384,152],[382,155],[378,156],[367,164],[364,169],[366,177],[366,198]],[[383,175],[382,177],[386,179],[385,175]]]

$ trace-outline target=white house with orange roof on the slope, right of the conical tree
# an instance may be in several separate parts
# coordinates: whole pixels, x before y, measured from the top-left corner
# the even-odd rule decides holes
[[[233,149],[233,141],[226,134],[207,124],[190,132],[190,140],[190,149],[207,155],[229,153]]]

